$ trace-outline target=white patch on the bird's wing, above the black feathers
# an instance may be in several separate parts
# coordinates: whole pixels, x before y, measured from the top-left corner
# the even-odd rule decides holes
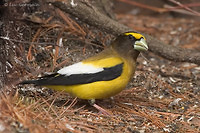
[[[59,74],[65,74],[67,76],[73,74],[91,74],[103,71],[103,68],[97,68],[90,64],[83,64],[82,62],[75,63],[73,65],[64,67],[58,71]]]

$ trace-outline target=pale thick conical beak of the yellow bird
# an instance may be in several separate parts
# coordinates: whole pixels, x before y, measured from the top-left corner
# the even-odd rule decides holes
[[[142,38],[139,41],[135,41],[134,49],[138,51],[147,51],[148,45],[146,41]]]

